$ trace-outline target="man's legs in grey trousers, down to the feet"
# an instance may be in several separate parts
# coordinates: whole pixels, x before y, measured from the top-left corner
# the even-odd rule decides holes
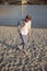
[[[27,50],[27,47],[28,47],[28,45],[27,45],[27,44],[28,44],[28,43],[27,43],[27,42],[28,42],[27,35],[22,35],[22,34],[21,34],[21,39],[22,39],[22,43],[23,43],[23,44],[22,44],[22,45],[23,45],[22,50],[23,50],[24,54],[28,55],[28,52],[26,51],[26,50]]]

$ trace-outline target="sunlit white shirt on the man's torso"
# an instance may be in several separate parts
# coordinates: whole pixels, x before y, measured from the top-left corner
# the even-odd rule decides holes
[[[21,24],[23,23],[23,21],[21,22]],[[19,26],[21,28],[21,25]],[[28,28],[31,28],[31,21],[28,21],[27,23],[25,22],[25,25],[23,26],[22,29],[20,29],[22,35],[27,35],[28,33]]]

